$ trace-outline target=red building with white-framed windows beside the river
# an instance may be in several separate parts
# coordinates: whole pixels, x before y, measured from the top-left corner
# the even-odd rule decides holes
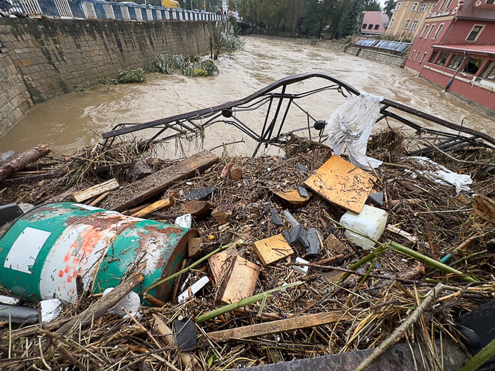
[[[440,0],[406,67],[495,113],[495,0]]]

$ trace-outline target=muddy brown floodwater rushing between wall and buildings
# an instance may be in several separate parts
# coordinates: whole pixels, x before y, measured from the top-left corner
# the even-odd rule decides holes
[[[367,93],[383,96],[426,111],[453,123],[495,136],[492,118],[459,100],[451,93],[416,77],[411,71],[367,61],[318,46],[291,40],[246,38],[244,50],[219,58],[220,73],[209,78],[187,78],[159,73],[146,75],[144,84],[99,86],[85,93],[71,93],[31,108],[5,136],[0,152],[24,151],[46,143],[57,154],[72,153],[82,146],[94,145],[99,134],[117,123],[142,123],[215,106],[244,98],[279,78],[309,71],[323,71]],[[311,84],[299,83],[307,90]],[[297,86],[294,87],[297,90]],[[326,96],[327,97],[327,96]],[[316,94],[304,101],[304,109],[318,119],[327,119],[344,98],[332,93],[328,100]],[[261,131],[264,116],[251,113],[249,126]],[[305,125],[304,116],[291,117],[284,131]],[[206,132],[206,149],[221,143],[239,141],[246,136],[224,124]],[[229,148],[233,155],[252,153],[254,143],[246,140]],[[176,151],[171,143],[169,151]],[[187,145],[186,153],[194,148]]]

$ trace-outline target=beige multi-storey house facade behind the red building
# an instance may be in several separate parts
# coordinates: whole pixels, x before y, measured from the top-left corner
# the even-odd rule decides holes
[[[437,2],[438,0],[397,1],[385,34],[393,36],[396,40],[414,40],[426,16]]]

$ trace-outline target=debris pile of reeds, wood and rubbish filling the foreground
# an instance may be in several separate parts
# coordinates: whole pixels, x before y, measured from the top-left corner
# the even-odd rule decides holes
[[[315,142],[289,144],[284,157],[181,161],[120,143],[16,168],[1,204],[71,200],[199,235],[176,273],[136,290],[137,311],[120,300],[140,287],[142,257],[114,290],[78,292],[56,320],[9,325],[2,315],[2,370],[225,370],[399,341],[436,369],[447,345],[466,352],[456,320],[494,299],[495,153],[429,154],[469,175],[466,188],[406,156],[416,144],[395,129],[375,134],[368,153],[383,163],[370,171]],[[168,301],[151,295],[164,283]],[[353,369],[376,359],[362,354]]]

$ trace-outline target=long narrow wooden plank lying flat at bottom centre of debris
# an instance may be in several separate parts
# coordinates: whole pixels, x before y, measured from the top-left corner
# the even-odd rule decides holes
[[[266,323],[258,323],[244,327],[236,327],[231,330],[209,332],[209,337],[215,341],[227,341],[231,339],[249,339],[249,337],[258,337],[277,332],[293,331],[302,328],[327,325],[339,320],[350,320],[350,315],[344,315],[344,312],[336,310],[334,312],[316,313],[314,315],[304,315],[301,317],[287,318],[286,320],[277,320]]]

